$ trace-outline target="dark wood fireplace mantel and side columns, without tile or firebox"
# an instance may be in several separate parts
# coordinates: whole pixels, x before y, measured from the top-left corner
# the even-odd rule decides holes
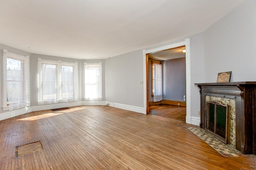
[[[236,149],[256,154],[256,82],[196,83],[200,88],[200,127],[205,129],[205,96],[236,102]]]

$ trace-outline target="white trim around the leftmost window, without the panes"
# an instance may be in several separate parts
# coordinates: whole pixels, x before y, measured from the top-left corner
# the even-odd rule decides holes
[[[7,106],[7,91],[6,91],[6,84],[7,84],[7,80],[6,80],[6,70],[7,70],[7,66],[6,66],[6,63],[7,63],[7,57],[5,57],[5,54],[10,54],[10,55],[15,55],[19,58],[23,58],[24,60],[28,60],[28,68],[26,68],[26,74],[28,77],[26,77],[26,84],[25,84],[25,88],[26,88],[26,106],[30,106],[30,67],[29,67],[29,57],[26,55],[18,55],[18,54],[15,54],[15,53],[10,53],[8,52],[7,50],[3,49],[3,110],[8,110],[10,109],[9,106]],[[28,101],[29,100],[29,101]],[[22,107],[26,107],[26,106],[22,106]],[[22,108],[21,107],[21,108]]]

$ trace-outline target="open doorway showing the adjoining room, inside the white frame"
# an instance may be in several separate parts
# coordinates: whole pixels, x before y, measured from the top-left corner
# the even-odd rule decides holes
[[[185,45],[148,54],[149,114],[186,121],[186,51]],[[155,72],[154,66],[161,66]],[[154,86],[160,77],[161,84]],[[160,91],[159,91],[160,90]],[[161,100],[154,92],[161,92]],[[156,97],[157,96],[157,97]]]

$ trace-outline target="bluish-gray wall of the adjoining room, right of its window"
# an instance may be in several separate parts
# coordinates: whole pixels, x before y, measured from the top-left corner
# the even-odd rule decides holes
[[[162,61],[163,99],[184,101],[186,95],[186,58]]]

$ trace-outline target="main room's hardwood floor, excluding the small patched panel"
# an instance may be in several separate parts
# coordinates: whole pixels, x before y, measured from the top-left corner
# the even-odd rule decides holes
[[[255,169],[255,156],[223,157],[184,123],[104,106],[36,111],[0,121],[0,169]],[[43,150],[15,157],[15,147]]]

